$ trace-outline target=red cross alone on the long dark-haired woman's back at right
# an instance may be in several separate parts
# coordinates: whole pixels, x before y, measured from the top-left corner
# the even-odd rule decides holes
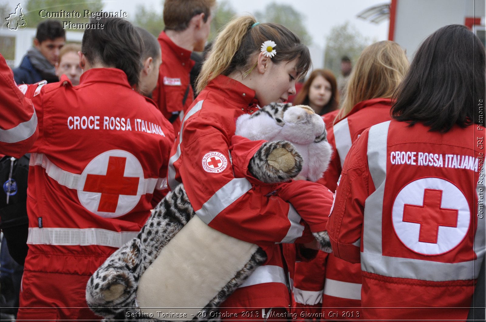
[[[457,209],[441,208],[442,190],[425,189],[422,206],[404,205],[403,221],[420,224],[419,242],[437,243],[439,226],[457,227]]]

